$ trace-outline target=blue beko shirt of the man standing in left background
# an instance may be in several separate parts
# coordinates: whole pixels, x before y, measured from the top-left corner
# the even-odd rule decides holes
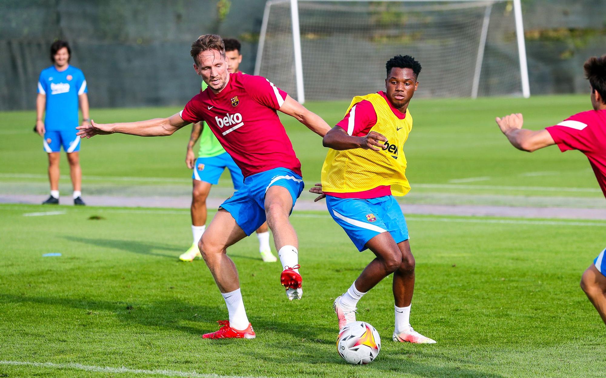
[[[58,71],[54,65],[45,68],[38,79],[38,93],[46,95],[47,131],[75,131],[78,126],[78,96],[88,93],[84,73],[67,66]]]

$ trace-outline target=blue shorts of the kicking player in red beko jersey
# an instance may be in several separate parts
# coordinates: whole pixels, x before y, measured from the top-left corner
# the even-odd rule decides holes
[[[259,172],[244,179],[244,185],[221,204],[246,235],[255,232],[265,223],[265,192],[272,186],[288,189],[293,198],[293,207],[303,191],[303,178],[287,168],[274,168]],[[292,211],[292,209],[291,209]]]

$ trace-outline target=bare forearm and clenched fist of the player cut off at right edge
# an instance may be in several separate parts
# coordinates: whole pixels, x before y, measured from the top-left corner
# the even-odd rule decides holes
[[[496,117],[496,123],[511,145],[522,151],[533,152],[556,144],[545,129],[538,131],[522,129],[524,118],[521,113],[510,114],[503,118]]]

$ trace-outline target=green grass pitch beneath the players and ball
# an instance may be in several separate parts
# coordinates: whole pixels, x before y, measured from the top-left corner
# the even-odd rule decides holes
[[[347,103],[308,106],[334,124]],[[602,206],[582,154],[516,151],[494,123],[520,111],[526,126],[538,129],[589,106],[588,96],[413,100],[415,125],[404,148],[413,189],[402,201],[516,205],[535,198],[544,206]],[[93,108],[92,115],[113,122],[177,111]],[[33,119],[33,112],[0,114],[0,195],[47,193]],[[308,188],[319,179],[325,150],[317,135],[284,121]],[[84,141],[84,194],[87,187],[121,194],[135,185],[142,193],[162,186],[186,193],[186,129],[167,138]],[[68,189],[62,180],[64,194]],[[32,216],[48,211],[58,213]],[[256,238],[230,249],[258,337],[206,341],[202,333],[216,330],[227,310],[204,262],[176,259],[191,239],[187,209],[1,204],[0,377],[604,376],[604,324],[578,282],[605,247],[606,221],[407,220],[417,261],[411,323],[438,344],[391,342],[387,278],[359,303],[358,319],[378,329],[382,349],[375,362],[357,367],[336,352],[331,305],[371,255],[358,253],[327,212],[291,217],[303,266],[301,301],[287,301],[279,265],[258,258]],[[42,257],[52,252],[62,256]]]

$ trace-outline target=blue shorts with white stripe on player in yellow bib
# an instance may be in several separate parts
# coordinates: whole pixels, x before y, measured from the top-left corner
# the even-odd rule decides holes
[[[379,233],[389,232],[396,243],[408,240],[404,213],[393,195],[367,200],[327,195],[326,206],[360,252],[367,249],[366,243]]]

